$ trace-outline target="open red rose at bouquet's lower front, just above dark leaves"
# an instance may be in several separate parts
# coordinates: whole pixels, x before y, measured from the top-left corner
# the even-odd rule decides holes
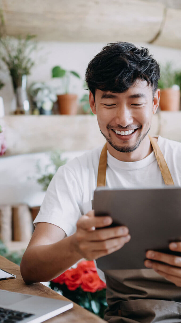
[[[95,293],[100,286],[100,278],[96,272],[89,272],[82,276],[81,288],[85,292]]]

